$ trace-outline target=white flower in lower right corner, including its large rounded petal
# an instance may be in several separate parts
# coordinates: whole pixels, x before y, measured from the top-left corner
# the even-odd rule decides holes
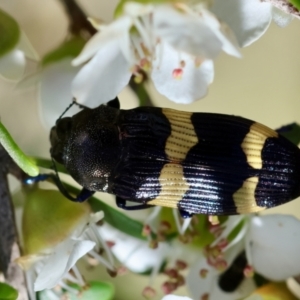
[[[238,222],[244,222],[238,235],[222,246]],[[247,258],[244,274],[248,270],[270,280],[283,281],[300,273],[300,221],[296,218],[286,215],[230,217],[224,225],[226,228],[206,250],[206,256],[191,267],[187,286],[193,298],[235,300],[249,295],[256,287],[250,277],[244,277],[232,292],[223,291],[219,284],[221,274],[243,251]]]

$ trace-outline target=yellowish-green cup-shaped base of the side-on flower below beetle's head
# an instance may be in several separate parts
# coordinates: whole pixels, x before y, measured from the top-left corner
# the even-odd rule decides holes
[[[67,200],[57,190],[23,189],[22,233],[26,254],[43,252],[66,239],[90,213],[88,203]]]

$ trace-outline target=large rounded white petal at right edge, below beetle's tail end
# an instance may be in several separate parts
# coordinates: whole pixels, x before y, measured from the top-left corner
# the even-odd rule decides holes
[[[300,221],[288,215],[253,217],[247,257],[255,271],[281,281],[300,274]]]

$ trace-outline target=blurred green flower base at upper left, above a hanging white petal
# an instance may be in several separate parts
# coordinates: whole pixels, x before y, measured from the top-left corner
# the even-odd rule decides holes
[[[42,60],[42,65],[57,62],[67,57],[76,57],[84,47],[85,40],[80,37],[73,37],[69,41],[60,45],[57,49],[48,53]]]

